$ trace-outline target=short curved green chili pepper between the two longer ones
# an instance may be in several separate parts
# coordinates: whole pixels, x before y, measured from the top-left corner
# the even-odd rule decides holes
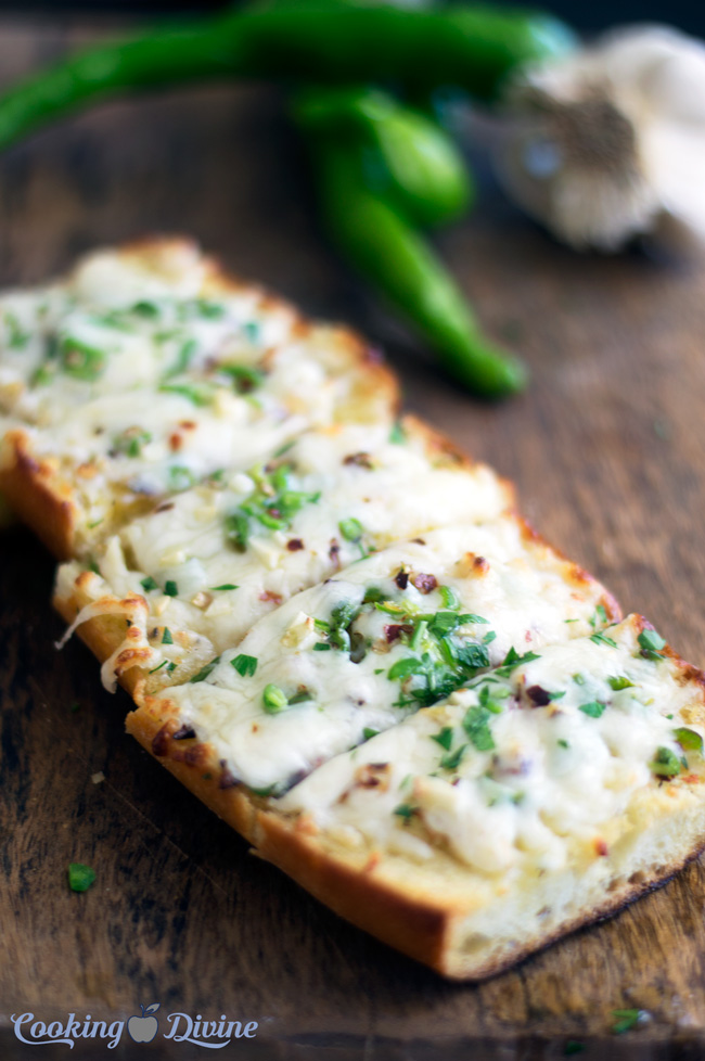
[[[426,115],[379,89],[309,89],[294,104],[296,123],[313,136],[352,137],[364,149],[370,188],[420,226],[460,217],[474,197],[467,166],[452,138]]]

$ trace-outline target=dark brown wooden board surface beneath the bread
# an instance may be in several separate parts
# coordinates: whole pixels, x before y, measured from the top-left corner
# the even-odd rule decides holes
[[[103,31],[3,16],[0,76]],[[480,406],[370,309],[325,248],[271,90],[105,105],[0,159],[3,285],[149,231],[192,233],[307,311],[386,340],[408,406],[514,478],[551,540],[705,663],[704,260],[578,257],[486,182],[482,208],[441,245],[487,329],[522,349],[534,379],[521,399]],[[705,1056],[701,861],[510,973],[445,983],[254,858],[150,760],[124,733],[125,694],[102,690],[79,643],[54,651],[49,557],[21,528],[1,540],[3,1059],[49,1057],[17,1043],[13,1013],[112,1021],[153,1001],[163,1014],[258,1021],[256,1039],[222,1051],[233,1058],[560,1058],[569,1041],[586,1059]],[[72,860],[98,872],[86,894],[66,886]],[[611,1011],[631,1007],[651,1021],[613,1035]],[[134,1052],[204,1051],[155,1040]],[[123,1041],[105,1056],[133,1054]]]

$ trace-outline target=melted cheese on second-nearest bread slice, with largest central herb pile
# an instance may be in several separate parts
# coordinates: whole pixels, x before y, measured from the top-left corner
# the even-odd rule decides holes
[[[526,541],[513,520],[423,540],[297,595],[203,680],[167,691],[236,778],[279,791],[501,663],[510,648],[525,653],[600,625],[601,587],[576,585],[569,565]],[[239,673],[243,656],[257,661],[254,675]]]

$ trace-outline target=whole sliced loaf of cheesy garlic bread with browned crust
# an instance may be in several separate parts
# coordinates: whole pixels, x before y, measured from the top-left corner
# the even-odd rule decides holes
[[[705,843],[705,676],[185,240],[0,296],[0,489],[126,726],[260,855],[480,979]]]

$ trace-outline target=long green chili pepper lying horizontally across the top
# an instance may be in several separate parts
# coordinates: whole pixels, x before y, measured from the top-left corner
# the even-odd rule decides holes
[[[484,5],[409,11],[303,0],[228,12],[79,52],[21,82],[0,99],[0,148],[91,102],[207,78],[392,80],[416,93],[456,85],[487,100],[517,65],[572,46],[551,16]]]

